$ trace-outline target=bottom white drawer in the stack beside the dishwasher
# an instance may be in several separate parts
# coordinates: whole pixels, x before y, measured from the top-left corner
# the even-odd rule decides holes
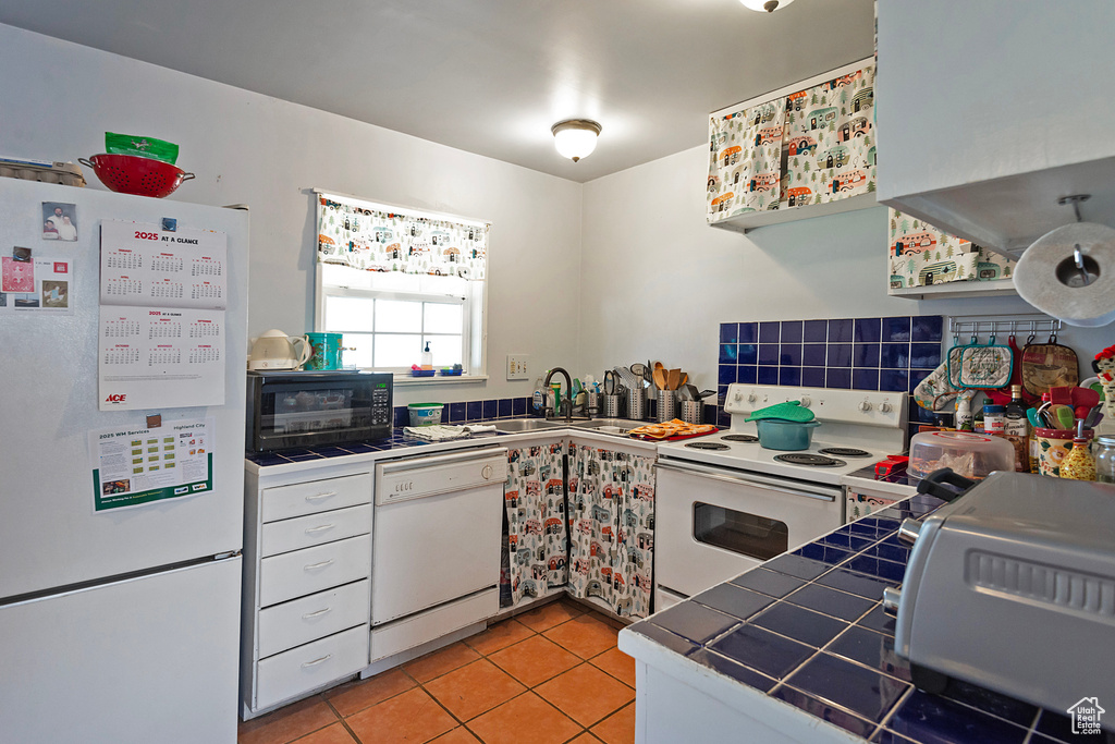
[[[368,626],[277,654],[255,665],[255,708],[328,685],[368,666]]]

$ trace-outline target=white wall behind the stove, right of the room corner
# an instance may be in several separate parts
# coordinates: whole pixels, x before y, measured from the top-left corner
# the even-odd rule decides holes
[[[651,358],[714,388],[721,322],[1036,313],[1018,298],[888,297],[882,206],[746,235],[710,228],[707,176],[701,145],[585,184],[581,348],[589,368]],[[1088,361],[1115,334],[1066,329],[1060,340],[1090,376]]]

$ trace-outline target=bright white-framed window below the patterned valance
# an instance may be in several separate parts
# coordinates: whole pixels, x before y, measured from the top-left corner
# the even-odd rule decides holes
[[[409,375],[429,345],[435,368],[484,375],[484,282],[318,264],[319,331],[343,334],[343,363]]]

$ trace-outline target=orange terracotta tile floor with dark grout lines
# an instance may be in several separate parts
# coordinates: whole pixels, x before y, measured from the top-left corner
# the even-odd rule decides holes
[[[240,744],[634,742],[619,624],[560,600],[240,724]]]

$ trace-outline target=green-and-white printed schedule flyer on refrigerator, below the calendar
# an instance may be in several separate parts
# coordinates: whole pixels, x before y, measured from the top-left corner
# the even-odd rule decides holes
[[[214,419],[89,433],[95,512],[213,490]]]

